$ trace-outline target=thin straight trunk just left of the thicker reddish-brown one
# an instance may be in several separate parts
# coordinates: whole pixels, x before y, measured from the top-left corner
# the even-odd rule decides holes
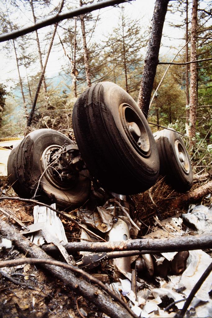
[[[186,62],[188,62],[188,0],[186,0]],[[189,66],[186,64],[186,123],[189,124]]]

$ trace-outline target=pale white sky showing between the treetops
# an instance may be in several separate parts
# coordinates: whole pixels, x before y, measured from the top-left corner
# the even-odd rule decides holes
[[[67,1],[69,2],[69,1]],[[56,0],[51,1],[51,4],[56,6],[59,2]],[[69,2],[70,4],[76,3],[76,6],[78,6],[78,0],[72,0],[72,2]],[[126,10],[126,13],[129,17],[132,19],[140,19],[140,25],[141,28],[150,27],[152,15],[154,11],[154,0],[135,0],[131,3],[124,3],[124,7]],[[21,8],[20,8],[21,9]],[[67,8],[63,10],[65,12]],[[16,17],[20,16],[21,20],[25,21],[25,26],[27,24],[32,24],[32,17],[31,13],[29,12],[27,16],[24,14],[25,11],[23,9],[16,10],[14,12],[13,16],[11,16],[11,20],[15,19]],[[96,16],[98,14],[98,10],[94,11],[93,15]],[[100,17],[101,20],[97,23],[94,39],[98,41],[98,39],[102,38],[102,35],[107,35],[107,33],[110,33],[114,27],[117,25],[118,16],[120,14],[120,9],[114,8],[114,7],[108,7],[100,10]],[[164,24],[163,33],[166,35],[166,37],[162,38],[162,45],[160,49],[161,55],[166,55],[167,59],[170,59],[176,51],[184,45],[184,40],[180,39],[184,36],[184,30],[172,28],[170,26],[170,22],[173,24],[180,23],[182,18],[180,17],[180,14],[176,13],[174,16],[167,12],[166,14],[166,21]],[[58,28],[59,30],[60,28]],[[49,27],[43,28],[39,30],[39,38],[42,41],[42,38],[44,38],[46,32],[49,31]],[[59,31],[60,32],[60,31]],[[167,38],[167,36],[170,37],[170,39]],[[179,40],[176,38],[179,38]],[[58,41],[57,35],[55,37],[55,41]],[[36,43],[35,43],[36,45]],[[175,48],[173,48],[173,46]],[[36,47],[35,47],[36,49]],[[146,48],[143,49],[142,54],[145,56],[146,54]],[[54,76],[57,76],[58,73],[61,70],[62,65],[64,65],[64,52],[61,48],[61,46],[53,47],[50,57],[48,60],[48,64],[46,67],[46,78],[53,78]],[[2,49],[2,44],[0,44],[0,67],[1,67],[1,83],[4,83],[7,85],[8,89],[12,85],[12,82],[9,81],[6,83],[6,80],[8,79],[17,79],[18,73],[17,73],[17,67],[16,67],[16,61],[15,56],[13,53],[11,53],[11,56],[8,55],[8,53]],[[27,70],[28,75],[34,74],[38,70],[39,64],[35,64],[34,67]],[[22,78],[26,78],[26,73],[24,68],[20,68],[20,73]]]

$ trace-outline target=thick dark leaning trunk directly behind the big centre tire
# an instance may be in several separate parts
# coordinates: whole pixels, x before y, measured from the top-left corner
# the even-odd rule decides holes
[[[166,16],[169,0],[156,0],[152,17],[152,34],[148,44],[145,57],[144,71],[138,96],[138,106],[145,117],[148,116],[153,82],[158,65],[160,42],[163,31],[163,24]]]

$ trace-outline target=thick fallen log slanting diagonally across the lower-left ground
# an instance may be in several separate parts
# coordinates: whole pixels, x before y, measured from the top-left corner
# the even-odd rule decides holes
[[[6,222],[0,218],[0,231],[8,239],[29,257],[50,259],[53,260],[46,252],[44,252],[39,246],[33,244],[28,239],[25,239],[17,230],[12,228]],[[62,280],[67,284],[75,293],[82,295],[88,301],[94,303],[101,311],[105,312],[111,317],[132,317],[129,312],[117,304],[111,301],[108,295],[103,293],[99,288],[93,284],[88,283],[82,277],[77,277],[73,272],[63,269],[58,266],[42,265],[44,269],[49,271],[54,277]]]

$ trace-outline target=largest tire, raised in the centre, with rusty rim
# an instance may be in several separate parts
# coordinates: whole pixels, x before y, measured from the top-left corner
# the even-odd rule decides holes
[[[102,82],[82,93],[74,105],[73,128],[89,171],[107,190],[135,194],[156,182],[159,156],[152,131],[118,85]]]

